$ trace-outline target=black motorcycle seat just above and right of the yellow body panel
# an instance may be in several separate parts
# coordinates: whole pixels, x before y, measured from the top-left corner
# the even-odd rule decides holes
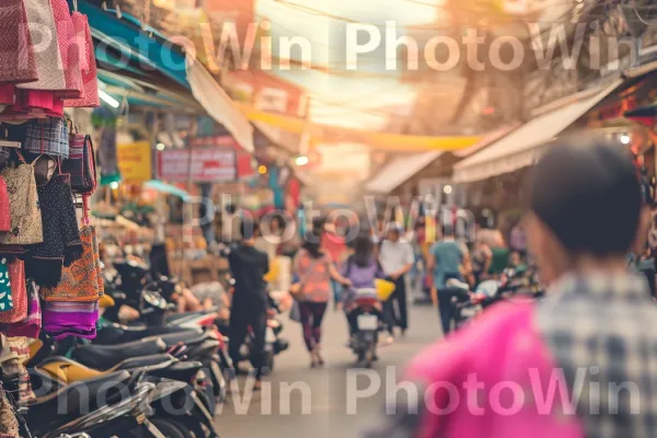
[[[135,341],[118,345],[85,345],[73,349],[72,358],[89,368],[107,370],[135,357],[164,353],[166,344],[160,338]]]

